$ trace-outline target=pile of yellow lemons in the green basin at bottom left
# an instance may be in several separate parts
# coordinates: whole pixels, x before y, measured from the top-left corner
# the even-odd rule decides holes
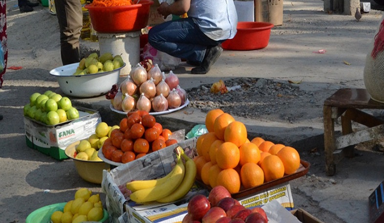
[[[104,217],[100,194],[93,194],[87,188],[80,188],[75,199],[67,202],[63,211],[51,215],[52,223],[98,222]]]

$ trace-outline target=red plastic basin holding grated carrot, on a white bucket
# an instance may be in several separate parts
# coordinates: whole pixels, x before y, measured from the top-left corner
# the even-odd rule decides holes
[[[127,6],[85,5],[92,27],[99,33],[125,33],[141,30],[148,24],[152,0],[140,0]]]

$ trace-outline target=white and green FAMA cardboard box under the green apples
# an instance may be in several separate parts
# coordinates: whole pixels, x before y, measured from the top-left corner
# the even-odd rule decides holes
[[[27,146],[57,160],[67,159],[65,148],[76,141],[88,138],[101,122],[98,111],[81,107],[76,109],[79,111],[79,118],[53,126],[24,117]]]

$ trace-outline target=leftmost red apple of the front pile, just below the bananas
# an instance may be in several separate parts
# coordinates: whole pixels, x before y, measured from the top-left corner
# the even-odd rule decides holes
[[[211,208],[208,198],[202,194],[194,195],[188,203],[188,213],[193,220],[201,221]]]

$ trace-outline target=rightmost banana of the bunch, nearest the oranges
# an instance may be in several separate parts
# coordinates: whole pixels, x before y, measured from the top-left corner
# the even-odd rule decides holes
[[[157,202],[160,203],[171,203],[175,202],[182,197],[184,197],[192,188],[194,184],[194,180],[196,177],[196,164],[193,162],[191,158],[189,158],[187,155],[182,153],[183,157],[186,160],[185,163],[185,175],[184,179],[181,182],[180,186],[176,188],[170,195],[156,200]]]

